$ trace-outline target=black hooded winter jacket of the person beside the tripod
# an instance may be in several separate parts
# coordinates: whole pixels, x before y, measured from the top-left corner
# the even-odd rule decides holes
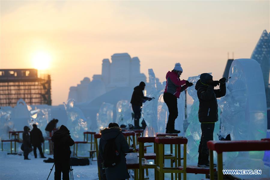
[[[53,158],[54,160],[69,160],[70,159],[70,147],[74,145],[73,139],[69,135],[67,127],[62,125],[59,130],[53,133]]]

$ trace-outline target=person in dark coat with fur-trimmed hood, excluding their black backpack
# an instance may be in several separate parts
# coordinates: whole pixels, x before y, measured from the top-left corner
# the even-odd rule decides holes
[[[101,138],[99,140],[99,155],[104,159],[104,149],[109,139],[115,138],[117,151],[120,154],[120,163],[113,167],[105,169],[106,178],[108,180],[122,180],[130,178],[126,168],[126,158],[124,153],[129,152],[129,145],[122,134],[122,130],[116,123],[110,123],[109,128],[101,130]]]

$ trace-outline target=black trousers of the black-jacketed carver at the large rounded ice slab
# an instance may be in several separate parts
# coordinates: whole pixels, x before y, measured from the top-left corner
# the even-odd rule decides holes
[[[213,141],[215,123],[201,123],[202,136],[199,145],[199,153],[209,154],[207,147],[208,141]]]

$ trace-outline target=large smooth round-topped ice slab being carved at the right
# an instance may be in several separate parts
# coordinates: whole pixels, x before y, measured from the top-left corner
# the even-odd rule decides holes
[[[221,131],[232,140],[266,137],[267,111],[262,70],[254,59],[232,62],[226,96],[221,98]]]

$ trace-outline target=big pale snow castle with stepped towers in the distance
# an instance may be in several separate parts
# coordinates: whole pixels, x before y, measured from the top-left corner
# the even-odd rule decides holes
[[[70,87],[68,99],[87,102],[118,87],[135,87],[146,76],[140,72],[140,60],[128,53],[116,53],[109,59],[102,60],[102,74],[93,75],[93,80],[84,78],[77,87]]]

